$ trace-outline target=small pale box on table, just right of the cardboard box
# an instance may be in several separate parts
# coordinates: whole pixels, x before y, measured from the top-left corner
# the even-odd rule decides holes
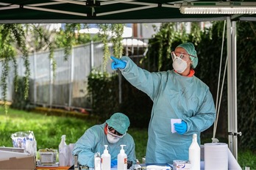
[[[39,149],[38,152],[41,165],[56,164],[57,149]]]

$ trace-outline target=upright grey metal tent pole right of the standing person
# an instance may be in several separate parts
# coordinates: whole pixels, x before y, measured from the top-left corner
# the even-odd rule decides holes
[[[236,22],[227,17],[227,122],[229,148],[235,159],[238,158],[237,140],[237,73],[236,73]]]

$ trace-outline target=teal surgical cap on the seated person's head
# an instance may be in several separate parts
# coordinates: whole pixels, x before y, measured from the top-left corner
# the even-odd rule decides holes
[[[121,113],[113,114],[110,119],[106,120],[107,125],[113,127],[118,133],[124,134],[129,127],[129,118]]]

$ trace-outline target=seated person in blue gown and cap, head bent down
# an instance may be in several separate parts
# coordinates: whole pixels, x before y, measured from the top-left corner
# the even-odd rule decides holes
[[[90,127],[78,139],[73,149],[73,155],[78,155],[78,163],[82,166],[94,167],[94,154],[104,152],[104,145],[111,155],[111,166],[117,165],[117,156],[120,152],[120,145],[125,144],[124,151],[127,160],[136,163],[135,142],[132,136],[127,133],[129,118],[121,113],[113,114],[102,125]]]

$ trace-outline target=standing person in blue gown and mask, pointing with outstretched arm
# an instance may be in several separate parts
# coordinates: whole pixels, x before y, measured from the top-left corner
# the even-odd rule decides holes
[[[130,84],[153,100],[146,147],[146,163],[173,163],[188,160],[193,133],[213,125],[216,117],[213,97],[208,86],[194,75],[198,58],[191,42],[182,43],[171,52],[174,70],[149,73],[128,56],[113,59],[112,68],[120,69]],[[171,119],[177,133],[171,133]]]

